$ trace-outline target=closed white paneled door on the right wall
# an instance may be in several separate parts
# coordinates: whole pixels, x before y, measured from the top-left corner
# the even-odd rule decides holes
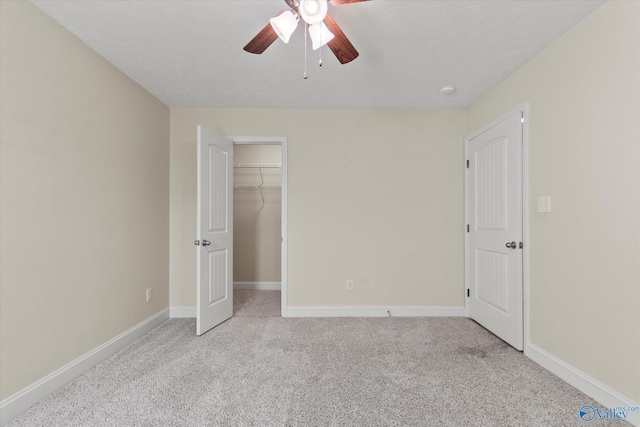
[[[522,113],[466,139],[469,316],[523,348]]]

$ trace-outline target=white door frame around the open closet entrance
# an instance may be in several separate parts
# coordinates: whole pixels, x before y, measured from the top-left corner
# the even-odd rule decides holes
[[[281,213],[281,264],[280,264],[280,315],[288,307],[287,299],[287,137],[286,136],[226,136],[236,145],[280,145],[282,149],[282,213]]]

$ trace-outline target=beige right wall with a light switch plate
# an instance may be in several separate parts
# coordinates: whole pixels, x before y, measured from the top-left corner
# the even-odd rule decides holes
[[[467,117],[471,132],[530,102],[531,342],[636,402],[639,21],[640,2],[606,3]]]

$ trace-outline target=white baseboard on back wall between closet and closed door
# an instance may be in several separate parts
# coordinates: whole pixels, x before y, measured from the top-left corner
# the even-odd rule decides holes
[[[282,317],[463,317],[464,307],[295,307]]]

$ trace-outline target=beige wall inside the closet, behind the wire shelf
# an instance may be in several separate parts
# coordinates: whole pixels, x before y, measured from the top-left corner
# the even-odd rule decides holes
[[[280,145],[236,145],[233,155],[244,166],[282,163]],[[239,167],[233,180],[233,280],[280,282],[282,168]]]

